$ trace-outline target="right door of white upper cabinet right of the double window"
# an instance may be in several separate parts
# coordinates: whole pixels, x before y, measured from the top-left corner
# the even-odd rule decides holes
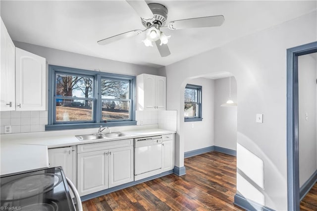
[[[166,77],[156,76],[156,108],[166,109]]]

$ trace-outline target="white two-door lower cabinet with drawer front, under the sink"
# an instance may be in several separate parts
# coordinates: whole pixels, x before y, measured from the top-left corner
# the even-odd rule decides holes
[[[133,158],[133,139],[78,145],[79,195],[84,196],[132,182]]]

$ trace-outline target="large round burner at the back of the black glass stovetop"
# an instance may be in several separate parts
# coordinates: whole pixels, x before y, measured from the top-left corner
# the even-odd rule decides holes
[[[30,176],[12,180],[1,185],[0,198],[4,201],[21,200],[29,198],[52,190],[60,182],[61,178],[58,174],[33,174]]]

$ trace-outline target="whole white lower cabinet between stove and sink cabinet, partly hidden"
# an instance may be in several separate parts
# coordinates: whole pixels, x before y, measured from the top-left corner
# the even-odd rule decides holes
[[[62,166],[65,176],[76,186],[76,147],[49,149],[49,166]]]

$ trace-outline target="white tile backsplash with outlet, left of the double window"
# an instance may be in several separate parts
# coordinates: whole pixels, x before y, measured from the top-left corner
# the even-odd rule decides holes
[[[48,124],[48,111],[1,111],[0,134],[4,126],[11,125],[11,133],[27,133],[45,131]]]

